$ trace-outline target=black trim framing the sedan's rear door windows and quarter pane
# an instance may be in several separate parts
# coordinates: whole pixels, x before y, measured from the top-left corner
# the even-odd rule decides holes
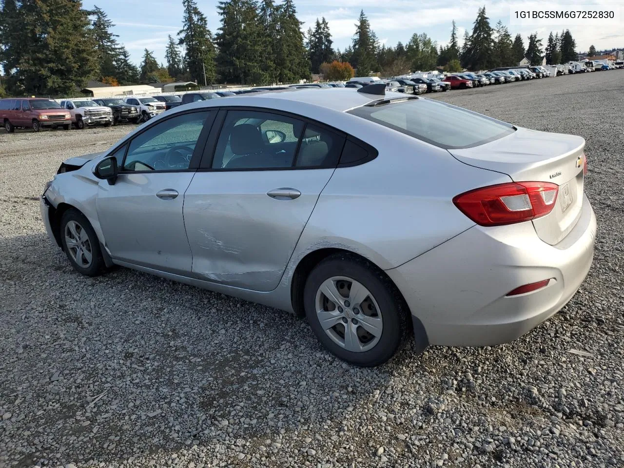
[[[323,122],[319,122],[319,120],[310,119],[309,117],[305,117],[305,115],[295,114],[293,112],[288,112],[288,111],[280,110],[280,109],[271,109],[270,107],[254,107],[250,105],[224,105],[224,106],[216,107],[216,109],[218,109],[219,112],[217,114],[217,117],[215,118],[215,121],[213,122],[213,125],[212,125],[213,129],[212,129],[212,132],[210,132],[210,136],[207,139],[205,149],[203,151],[202,159],[199,163],[199,167],[197,168],[197,172],[243,172],[243,171],[260,172],[260,171],[265,171],[265,170],[313,170],[313,169],[328,169],[328,168],[331,169],[331,168],[338,168],[338,167],[352,167],[352,166],[361,165],[369,161],[372,161],[374,158],[376,158],[379,155],[378,150],[376,150],[372,145],[369,145],[368,143],[363,142],[362,140],[360,140],[357,137],[354,137],[353,135],[349,135],[343,132],[343,130],[338,130],[336,129],[336,127],[331,127],[331,125],[327,125],[327,124],[324,124]],[[212,162],[215,157],[215,150],[217,150],[217,142],[221,134],[221,131],[223,130],[223,124],[225,123],[226,115],[230,110],[249,110],[251,112],[268,112],[270,114],[283,115],[284,117],[290,117],[291,119],[296,119],[296,120],[300,120],[301,122],[303,122],[304,127],[301,130],[301,137],[299,138],[299,141],[297,144],[297,149],[296,149],[294,163],[293,163],[295,165],[291,165],[290,167],[260,167],[260,168],[246,168],[246,167],[219,168],[217,167],[217,168],[213,168]],[[340,149],[340,156],[338,157],[337,165],[335,166],[329,165],[327,167],[297,166],[296,165],[296,160],[299,157],[299,149],[301,145],[301,140],[303,139],[303,134],[308,124],[316,125],[317,127],[320,127],[321,129],[324,129],[324,130],[327,130],[328,132],[333,133],[334,135],[336,135],[336,137],[343,139],[343,147]],[[360,160],[353,161],[350,163],[341,163],[340,158],[342,157],[342,152],[344,150],[344,144],[346,143],[346,140],[351,140],[351,142],[366,149],[368,151],[368,157],[362,158]]]

